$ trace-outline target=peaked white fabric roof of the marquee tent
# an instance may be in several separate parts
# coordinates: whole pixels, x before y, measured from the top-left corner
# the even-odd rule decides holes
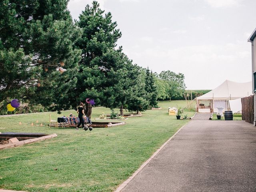
[[[197,100],[231,100],[252,95],[252,82],[238,83],[230,80],[224,81],[214,90],[197,97]]]

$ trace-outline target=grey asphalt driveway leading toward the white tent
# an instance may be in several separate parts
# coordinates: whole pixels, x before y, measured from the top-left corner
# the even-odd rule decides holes
[[[256,192],[256,127],[190,121],[122,192]]]

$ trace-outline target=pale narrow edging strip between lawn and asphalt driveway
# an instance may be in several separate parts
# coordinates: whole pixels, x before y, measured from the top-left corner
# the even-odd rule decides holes
[[[124,187],[160,152],[160,150],[162,150],[162,148],[164,148],[164,146],[166,146],[166,144],[168,144],[168,142],[170,142],[170,140],[172,140],[172,138],[178,133],[180,132],[180,130],[186,126],[189,122],[187,122],[186,124],[184,124],[181,128],[179,128],[178,131],[176,131],[176,133],[171,136],[164,144],[162,144],[162,146],[156,151],[154,152],[154,154],[148,159],[146,160],[141,166],[140,168],[138,168],[133,174],[132,176],[130,176],[127,180],[125,180],[122,184],[120,184],[118,186],[118,188],[114,191],[114,192],[121,192]]]

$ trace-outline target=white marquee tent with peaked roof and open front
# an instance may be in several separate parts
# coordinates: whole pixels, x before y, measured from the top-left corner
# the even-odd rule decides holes
[[[232,110],[233,113],[242,110],[241,98],[252,95],[252,82],[238,83],[224,81],[214,90],[196,98],[198,112],[218,112],[218,108]]]

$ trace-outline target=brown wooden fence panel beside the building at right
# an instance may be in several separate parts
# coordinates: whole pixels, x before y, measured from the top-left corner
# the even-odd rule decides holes
[[[242,120],[248,123],[254,121],[254,96],[241,98],[242,100]]]

